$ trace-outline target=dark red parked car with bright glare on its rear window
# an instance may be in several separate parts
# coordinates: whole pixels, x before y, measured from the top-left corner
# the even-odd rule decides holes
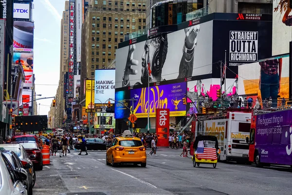
[[[43,158],[41,154],[41,147],[38,146],[38,144],[35,141],[18,141],[19,144],[21,144],[28,156],[30,156],[31,161],[34,164],[34,167],[36,170],[42,170],[43,169]]]

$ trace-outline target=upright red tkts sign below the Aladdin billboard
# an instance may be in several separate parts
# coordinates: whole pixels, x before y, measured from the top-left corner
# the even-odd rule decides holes
[[[156,109],[157,146],[168,146],[169,109]]]

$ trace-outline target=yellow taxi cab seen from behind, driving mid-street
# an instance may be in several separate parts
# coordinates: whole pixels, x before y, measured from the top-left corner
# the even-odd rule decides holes
[[[115,137],[107,151],[107,165],[140,164],[146,167],[146,148],[138,137]]]

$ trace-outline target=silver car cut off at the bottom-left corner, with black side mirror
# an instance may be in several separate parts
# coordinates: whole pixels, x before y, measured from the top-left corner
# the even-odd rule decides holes
[[[0,195],[27,195],[27,173],[23,168],[14,169],[9,160],[0,152]]]

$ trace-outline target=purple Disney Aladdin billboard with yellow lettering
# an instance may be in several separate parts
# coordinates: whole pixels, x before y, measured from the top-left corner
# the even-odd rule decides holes
[[[168,108],[170,117],[184,116],[186,107],[183,105],[183,98],[185,93],[185,82],[150,87],[149,116],[155,117],[157,108]],[[130,98],[137,99],[134,102],[133,114],[138,118],[147,117],[147,88],[132,89]]]

